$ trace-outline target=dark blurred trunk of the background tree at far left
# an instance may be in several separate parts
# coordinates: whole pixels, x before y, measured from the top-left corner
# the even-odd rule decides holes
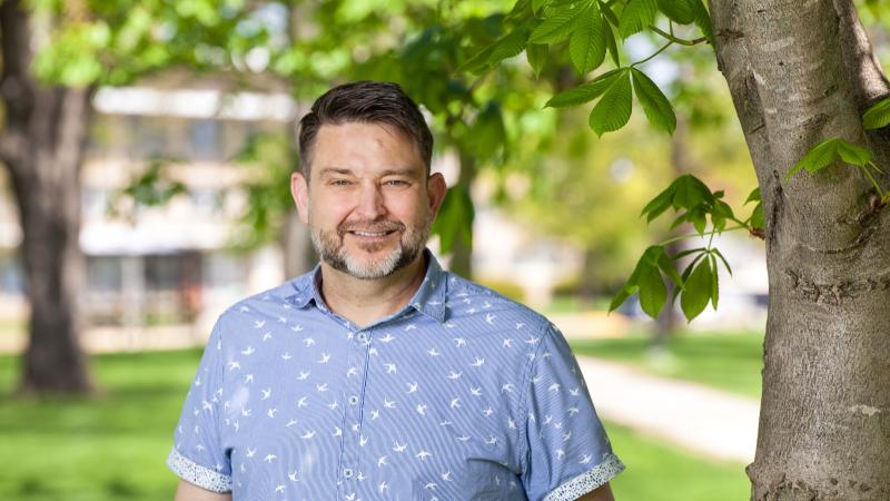
[[[19,207],[31,305],[21,390],[87,392],[92,385],[78,345],[77,294],[83,284],[79,169],[89,90],[46,88],[34,81],[28,16],[20,1],[0,4],[0,35],[6,108],[0,159]]]

